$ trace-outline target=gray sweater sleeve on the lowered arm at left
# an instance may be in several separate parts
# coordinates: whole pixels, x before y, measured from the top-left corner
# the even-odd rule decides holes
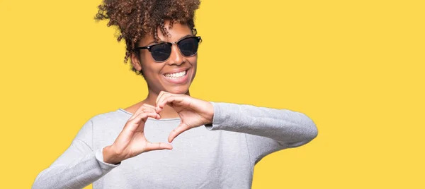
[[[87,121],[71,145],[35,178],[36,188],[84,188],[120,164],[103,161],[103,147],[93,150],[93,122]]]

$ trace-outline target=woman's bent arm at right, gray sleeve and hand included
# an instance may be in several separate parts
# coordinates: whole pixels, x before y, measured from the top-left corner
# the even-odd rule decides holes
[[[288,147],[305,145],[317,136],[314,122],[305,114],[287,109],[206,102],[186,94],[159,92],[155,110],[166,105],[180,116],[181,123],[171,131],[169,142],[191,128],[244,133],[251,161]]]

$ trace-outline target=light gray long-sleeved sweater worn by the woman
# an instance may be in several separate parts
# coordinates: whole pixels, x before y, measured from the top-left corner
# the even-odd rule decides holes
[[[98,114],[79,130],[71,145],[33,188],[251,188],[254,165],[267,154],[305,145],[317,136],[305,114],[243,104],[212,102],[211,125],[181,133],[173,150],[139,154],[108,164],[103,147],[113,144],[132,114],[124,109]],[[180,118],[148,118],[145,136],[166,142]]]

